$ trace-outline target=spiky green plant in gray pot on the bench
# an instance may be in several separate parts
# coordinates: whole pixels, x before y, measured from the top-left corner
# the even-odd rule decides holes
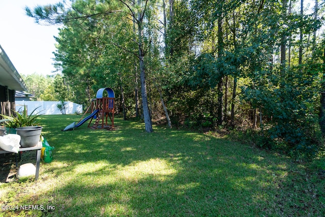
[[[3,123],[5,127],[9,128],[9,132],[11,132],[11,129],[15,129],[17,134],[20,135],[20,145],[22,147],[35,146],[40,139],[42,127],[39,126],[37,118],[42,114],[39,114],[40,112],[34,114],[36,109],[28,115],[27,109],[24,106],[24,110],[21,113],[19,111],[14,111],[12,116],[1,115],[2,117],[9,119]]]

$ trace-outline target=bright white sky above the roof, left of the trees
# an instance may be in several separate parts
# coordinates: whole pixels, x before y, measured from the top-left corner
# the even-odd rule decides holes
[[[25,6],[55,4],[59,0],[1,0],[0,45],[20,75],[53,75],[55,25],[40,25],[25,15]]]

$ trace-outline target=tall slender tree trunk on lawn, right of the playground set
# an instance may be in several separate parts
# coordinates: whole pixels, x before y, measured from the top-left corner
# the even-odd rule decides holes
[[[141,7],[141,0],[138,0],[138,5]],[[141,96],[145,129],[148,133],[153,132],[151,116],[148,106],[146,73],[144,65],[144,50],[142,41],[143,17],[142,12],[138,12],[138,44],[139,44],[139,65],[140,65],[140,82],[141,82]]]

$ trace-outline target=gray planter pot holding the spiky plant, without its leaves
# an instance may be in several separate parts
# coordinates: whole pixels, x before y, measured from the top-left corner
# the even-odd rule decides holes
[[[30,126],[16,128],[17,134],[20,136],[20,145],[23,148],[33,147],[40,141],[43,127]]]

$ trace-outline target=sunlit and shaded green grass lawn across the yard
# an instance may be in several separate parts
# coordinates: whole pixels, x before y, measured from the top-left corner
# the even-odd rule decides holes
[[[41,163],[37,181],[0,183],[0,204],[18,205],[0,216],[325,215],[325,175],[306,164],[210,134],[148,134],[120,118],[114,131],[88,122],[61,131],[80,117],[42,117],[54,161]]]

